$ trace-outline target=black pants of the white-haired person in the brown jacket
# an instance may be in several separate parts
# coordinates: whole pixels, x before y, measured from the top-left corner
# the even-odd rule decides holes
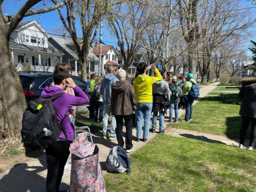
[[[131,149],[132,144],[132,126],[133,126],[133,115],[115,115],[117,121],[117,141],[118,145],[123,147],[123,118],[126,127],[125,133],[125,147],[126,149]]]

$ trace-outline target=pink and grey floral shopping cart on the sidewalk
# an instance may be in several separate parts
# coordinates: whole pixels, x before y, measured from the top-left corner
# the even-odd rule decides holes
[[[88,132],[77,134],[78,130],[87,130]],[[88,135],[91,143],[88,142]],[[74,137],[74,142],[69,148],[72,153],[70,191],[106,192],[105,181],[98,161],[99,148],[93,143],[90,128],[87,126],[77,127]]]

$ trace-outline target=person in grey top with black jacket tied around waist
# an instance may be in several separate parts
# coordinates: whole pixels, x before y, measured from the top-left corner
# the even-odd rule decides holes
[[[162,70],[159,70],[160,74],[164,75],[164,72]],[[164,79],[161,81],[153,84],[152,89],[153,94],[153,118],[152,118],[152,128],[150,129],[151,133],[155,133],[156,130],[156,124],[157,124],[157,116],[159,112],[159,133],[164,133],[164,114],[166,114],[166,110],[170,103],[170,97],[171,97],[171,91],[169,89],[168,84]]]

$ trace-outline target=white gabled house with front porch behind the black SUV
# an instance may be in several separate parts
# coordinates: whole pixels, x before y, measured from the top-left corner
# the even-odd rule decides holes
[[[33,71],[53,72],[55,61],[61,60],[62,53],[49,41],[50,36],[36,21],[20,22],[11,33],[10,50],[17,71],[21,63],[31,65]]]

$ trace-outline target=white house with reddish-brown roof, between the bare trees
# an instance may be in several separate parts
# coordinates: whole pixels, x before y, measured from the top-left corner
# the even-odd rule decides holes
[[[95,47],[92,49],[93,53],[99,58],[98,43],[95,43]],[[112,45],[102,45],[101,47],[101,66],[104,66],[103,73],[107,73],[107,67],[113,65],[116,70],[121,68],[118,62],[118,55]]]

